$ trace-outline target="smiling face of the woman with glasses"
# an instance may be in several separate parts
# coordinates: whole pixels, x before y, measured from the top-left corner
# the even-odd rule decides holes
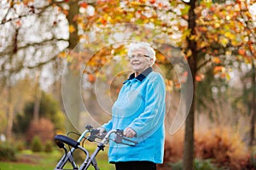
[[[150,59],[146,54],[145,49],[137,49],[129,56],[131,68],[137,72],[137,75],[146,70],[153,62],[153,59]]]

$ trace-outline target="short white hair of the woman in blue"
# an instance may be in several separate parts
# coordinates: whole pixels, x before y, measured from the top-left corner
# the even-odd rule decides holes
[[[131,56],[132,52],[133,51],[136,51],[138,49],[145,49],[146,50],[146,53],[145,55],[148,55],[148,57],[150,59],[153,59],[153,64],[154,65],[154,62],[155,62],[155,51],[153,48],[150,47],[150,44],[147,43],[147,42],[132,42],[129,46],[128,46],[128,56]],[[152,66],[151,65],[151,66]]]

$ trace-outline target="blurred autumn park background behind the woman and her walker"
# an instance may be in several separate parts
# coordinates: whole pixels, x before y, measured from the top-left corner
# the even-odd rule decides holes
[[[131,40],[154,44],[154,69],[166,81],[165,160],[158,168],[256,169],[255,1],[0,4],[1,170],[53,169],[63,153],[56,133],[108,121],[102,108],[129,75],[122,70]],[[186,90],[188,115],[177,118]],[[99,101],[101,94],[110,102]],[[113,168],[107,151],[98,157],[102,169]]]

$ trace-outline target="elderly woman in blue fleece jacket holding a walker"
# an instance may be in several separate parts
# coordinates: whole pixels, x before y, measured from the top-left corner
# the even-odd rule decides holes
[[[117,170],[153,170],[163,162],[166,87],[160,73],[154,72],[154,49],[145,42],[132,43],[128,57],[134,71],[123,83],[112,108],[112,119],[100,132],[124,129],[125,137],[136,146],[110,143],[108,161]]]

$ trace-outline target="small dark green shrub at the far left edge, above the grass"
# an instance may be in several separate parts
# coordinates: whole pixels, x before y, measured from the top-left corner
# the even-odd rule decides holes
[[[0,161],[16,161],[15,150],[6,144],[0,144]]]

